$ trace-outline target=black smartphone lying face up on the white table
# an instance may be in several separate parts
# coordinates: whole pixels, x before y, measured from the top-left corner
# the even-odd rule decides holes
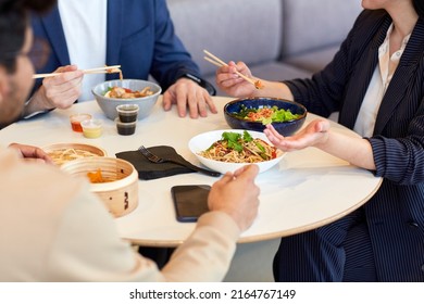
[[[197,221],[198,217],[208,212],[209,185],[184,185],[171,188],[176,219],[178,221]]]

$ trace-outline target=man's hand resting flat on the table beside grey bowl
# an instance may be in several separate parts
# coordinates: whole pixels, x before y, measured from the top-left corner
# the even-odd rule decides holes
[[[185,117],[187,109],[191,118],[208,116],[208,107],[217,113],[208,91],[188,78],[179,78],[163,94],[163,109],[170,111],[172,104],[177,105],[178,116]]]

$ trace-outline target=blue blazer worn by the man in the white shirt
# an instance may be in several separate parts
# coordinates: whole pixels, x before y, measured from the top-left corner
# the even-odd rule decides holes
[[[32,25],[34,35],[51,47],[47,65],[37,73],[51,73],[70,64],[58,8],[41,17],[33,15]],[[107,27],[105,64],[121,64],[125,78],[147,79],[151,74],[163,91],[186,74],[200,79],[197,64],[175,36],[166,1],[109,0]],[[107,75],[107,79],[116,77]],[[200,85],[211,92],[210,84],[200,80]]]

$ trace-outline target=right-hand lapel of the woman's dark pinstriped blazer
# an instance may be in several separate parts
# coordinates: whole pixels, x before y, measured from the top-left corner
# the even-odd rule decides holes
[[[396,68],[390,85],[383,98],[375,122],[374,134],[382,134],[394,111],[396,111],[398,104],[403,100],[402,97],[409,87],[410,79],[415,73],[416,63],[422,59],[424,52],[423,39],[419,37],[424,37],[424,21],[421,18],[408,41],[399,66]],[[408,101],[406,100],[404,102]]]

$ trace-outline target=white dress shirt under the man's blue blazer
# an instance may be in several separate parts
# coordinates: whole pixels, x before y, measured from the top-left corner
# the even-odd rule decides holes
[[[107,0],[59,0],[70,60],[80,69],[105,65],[107,11]],[[104,79],[104,74],[85,75],[78,100],[92,100],[91,88]]]

